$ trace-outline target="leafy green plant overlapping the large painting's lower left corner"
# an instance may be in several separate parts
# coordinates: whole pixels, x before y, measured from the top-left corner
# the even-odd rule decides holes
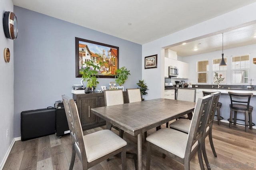
[[[100,67],[95,65],[92,60],[84,62],[83,65],[86,65],[86,67],[80,69],[80,74],[82,74],[83,81],[87,81],[85,93],[90,93],[90,89],[93,91],[93,88],[99,83],[97,81],[97,75],[99,73],[97,70],[100,70]]]

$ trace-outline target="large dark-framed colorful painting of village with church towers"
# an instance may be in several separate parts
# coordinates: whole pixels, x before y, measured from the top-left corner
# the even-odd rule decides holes
[[[82,77],[79,73],[87,61],[93,61],[98,65],[99,77],[114,78],[118,69],[119,47],[76,38],[76,77]]]

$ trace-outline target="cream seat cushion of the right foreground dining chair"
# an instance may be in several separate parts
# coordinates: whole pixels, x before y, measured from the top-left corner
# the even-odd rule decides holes
[[[175,137],[173,137],[175,136]],[[188,134],[171,128],[161,128],[147,137],[147,141],[158,145],[160,148],[171,152],[180,158],[185,157]],[[198,141],[192,146],[192,151],[198,145]]]

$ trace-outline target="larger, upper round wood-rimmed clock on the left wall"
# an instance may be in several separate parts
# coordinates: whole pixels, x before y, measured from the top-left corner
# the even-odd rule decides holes
[[[10,11],[4,12],[3,26],[4,26],[4,34],[6,38],[15,40],[18,35],[18,22],[13,12],[10,12]]]

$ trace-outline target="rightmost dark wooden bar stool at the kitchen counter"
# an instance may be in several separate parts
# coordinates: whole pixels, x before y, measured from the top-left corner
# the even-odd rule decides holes
[[[231,104],[230,107],[230,119],[229,121],[229,127],[231,127],[232,123],[234,125],[243,125],[245,126],[245,131],[248,132],[248,126],[250,129],[252,129],[252,126],[255,126],[254,123],[252,123],[252,110],[253,107],[250,106],[250,99],[253,96],[253,93],[232,93],[228,92],[230,96]],[[244,103],[244,104],[240,104]],[[233,111],[234,111],[234,118],[233,118]],[[236,119],[237,112],[245,113],[244,120],[242,119]],[[249,119],[249,121],[248,121]],[[234,120],[234,121],[233,121]],[[236,121],[244,121],[244,124],[237,123]],[[249,124],[248,124],[249,123]]]

